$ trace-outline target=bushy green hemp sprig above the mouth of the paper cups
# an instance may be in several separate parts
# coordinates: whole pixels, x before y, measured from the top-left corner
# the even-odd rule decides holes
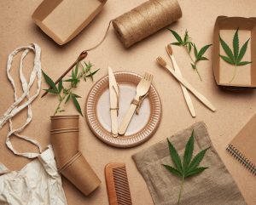
[[[91,71],[91,67],[93,65],[89,62],[88,64],[84,62],[84,65],[82,65],[80,62],[75,65],[75,67],[72,70],[72,75],[67,80],[61,80],[57,86],[53,82],[53,80],[43,71],[43,76],[45,79],[45,82],[49,85],[49,89],[44,89],[46,92],[50,94],[55,94],[58,96],[59,104],[57,105],[55,109],[54,116],[57,113],[65,111],[63,109],[64,105],[67,104],[69,100],[73,101],[73,105],[75,105],[77,111],[83,116],[83,113],[81,111],[81,107],[79,105],[78,98],[81,98],[78,94],[73,93],[73,89],[78,87],[78,84],[80,83],[80,79],[84,79],[86,82],[86,78],[90,78],[93,81],[93,76],[96,74],[97,71],[100,69],[97,69],[96,71]],[[70,83],[67,88],[64,88],[63,82]],[[65,102],[64,102],[65,101]],[[64,103],[64,105],[63,105]]]

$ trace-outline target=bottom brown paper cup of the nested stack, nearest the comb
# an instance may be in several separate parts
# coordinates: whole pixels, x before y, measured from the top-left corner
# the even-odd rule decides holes
[[[85,196],[90,195],[92,191],[101,184],[101,180],[90,167],[83,155],[80,155],[67,168],[61,170],[63,174],[79,191]]]

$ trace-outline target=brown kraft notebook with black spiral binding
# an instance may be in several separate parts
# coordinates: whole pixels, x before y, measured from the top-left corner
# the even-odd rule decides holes
[[[226,148],[230,154],[256,175],[256,115],[241,129]]]

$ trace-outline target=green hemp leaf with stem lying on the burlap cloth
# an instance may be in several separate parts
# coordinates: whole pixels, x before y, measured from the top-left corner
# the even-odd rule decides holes
[[[194,130],[192,131],[192,134],[189,138],[189,141],[186,144],[186,148],[183,154],[183,162],[181,161],[181,157],[178,156],[176,149],[170,142],[170,140],[167,139],[168,141],[168,146],[169,146],[169,151],[170,155],[172,158],[172,162],[175,166],[169,166],[166,164],[162,164],[166,170],[168,170],[170,173],[176,175],[181,179],[181,184],[180,184],[180,190],[178,193],[178,199],[177,199],[177,204],[180,203],[182,192],[183,192],[183,185],[184,185],[184,180],[195,176],[195,174],[200,174],[203,172],[205,167],[198,167],[199,164],[201,163],[203,157],[205,156],[207,150],[210,148],[208,147],[205,150],[201,150],[195,157],[192,159],[193,156],[193,151],[194,151]]]

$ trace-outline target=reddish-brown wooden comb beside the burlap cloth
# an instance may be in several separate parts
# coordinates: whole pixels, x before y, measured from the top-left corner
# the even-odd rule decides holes
[[[108,163],[105,178],[109,205],[132,205],[125,163]]]

